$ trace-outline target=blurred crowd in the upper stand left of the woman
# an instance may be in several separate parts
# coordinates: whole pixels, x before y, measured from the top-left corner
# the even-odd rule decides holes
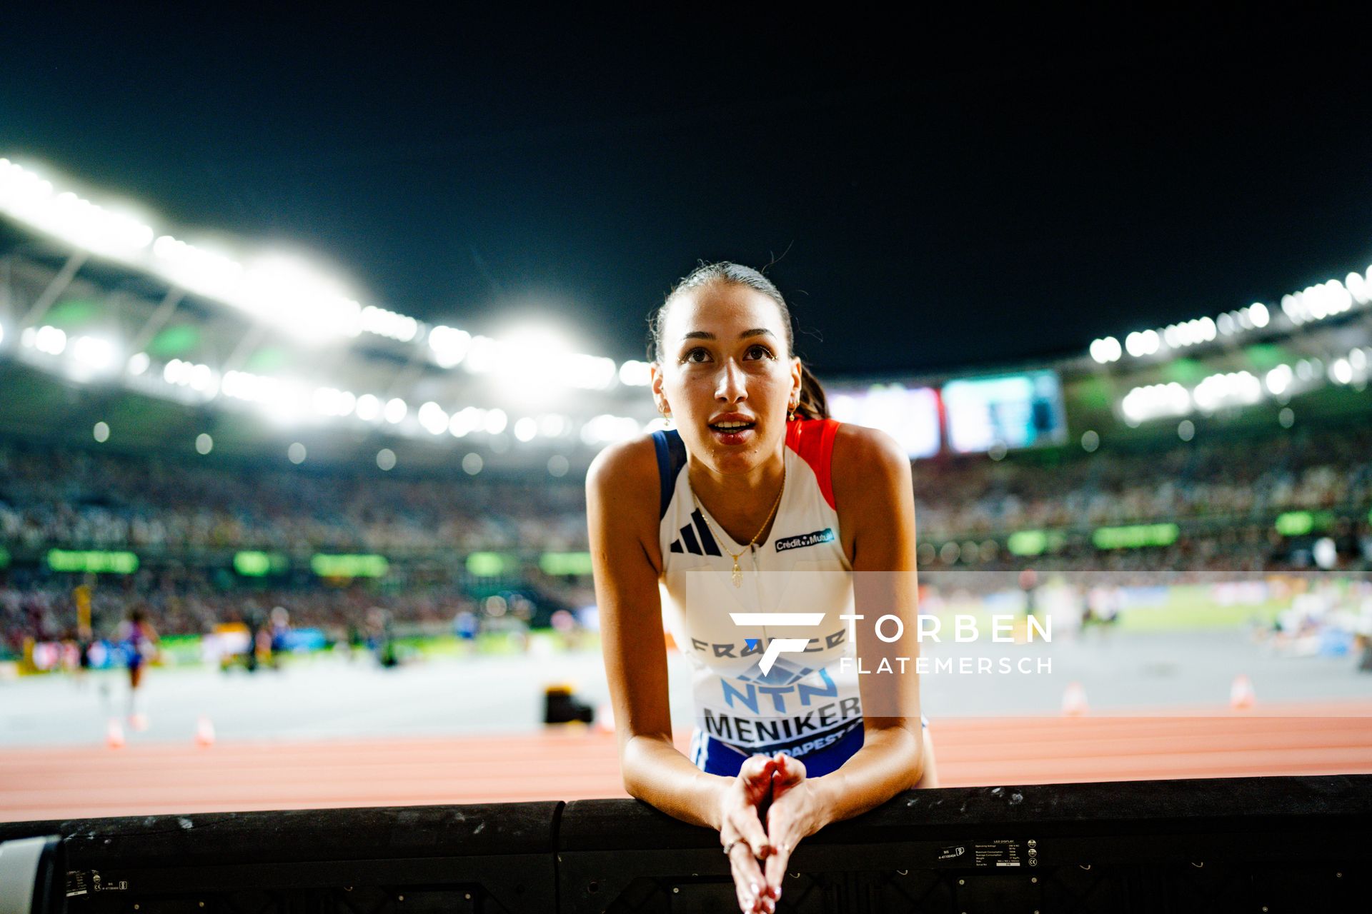
[[[584,548],[579,482],[196,466],[0,444],[0,543],[387,552]]]

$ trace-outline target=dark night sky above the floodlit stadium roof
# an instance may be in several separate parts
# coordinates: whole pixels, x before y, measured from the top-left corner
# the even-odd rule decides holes
[[[700,258],[781,258],[820,374],[1080,354],[1372,262],[1362,26],[387,10],[7,12],[0,155],[620,359]]]

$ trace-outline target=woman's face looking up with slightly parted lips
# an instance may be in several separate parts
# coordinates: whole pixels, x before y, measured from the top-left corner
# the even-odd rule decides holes
[[[653,396],[693,458],[734,474],[779,451],[800,359],[786,349],[775,301],[722,282],[683,292],[667,307],[661,358]]]

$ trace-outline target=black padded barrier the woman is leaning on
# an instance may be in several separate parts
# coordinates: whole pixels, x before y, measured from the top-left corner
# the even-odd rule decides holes
[[[628,799],[0,825],[41,833],[100,876],[71,914],[737,910],[718,835]],[[1372,910],[1372,776],[912,791],[807,839],[778,910]]]

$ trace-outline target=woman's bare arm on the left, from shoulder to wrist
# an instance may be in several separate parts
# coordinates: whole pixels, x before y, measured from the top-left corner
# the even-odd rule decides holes
[[[693,825],[720,828],[735,778],[705,774],[672,744],[663,640],[657,462],[650,439],[602,451],[586,474],[601,650],[624,789]]]

